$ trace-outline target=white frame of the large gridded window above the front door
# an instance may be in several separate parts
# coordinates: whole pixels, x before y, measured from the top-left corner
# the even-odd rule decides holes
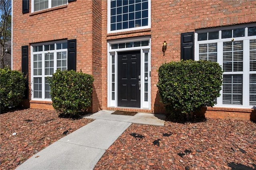
[[[107,9],[108,9],[108,17],[107,17],[108,18],[108,34],[151,28],[151,0],[148,0],[148,26],[141,26],[141,27],[136,27],[136,28],[127,28],[127,29],[122,29],[122,30],[110,31],[110,0],[108,0],[108,8]]]

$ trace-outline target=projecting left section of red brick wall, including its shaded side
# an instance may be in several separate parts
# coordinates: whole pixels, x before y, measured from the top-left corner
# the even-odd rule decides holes
[[[92,111],[98,111],[102,103],[101,44],[97,43],[101,40],[101,2],[77,0],[68,5],[22,14],[22,1],[14,0],[13,16],[13,69],[21,69],[22,45],[76,39],[77,71],[82,70],[82,72],[94,76]],[[29,73],[30,68],[29,57]],[[30,79],[29,75],[29,81]],[[50,108],[47,106],[50,103],[40,101],[36,103],[38,104],[33,101],[30,102],[30,107]]]

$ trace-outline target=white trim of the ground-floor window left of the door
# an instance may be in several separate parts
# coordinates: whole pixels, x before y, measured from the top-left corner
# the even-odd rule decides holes
[[[62,52],[66,51],[67,54],[67,66],[68,66],[68,49],[56,49],[56,43],[64,43],[67,41],[58,41],[58,42],[46,42],[46,43],[35,43],[30,45],[30,63],[31,63],[31,100],[34,101],[52,101],[52,99],[45,99],[45,77],[52,77],[52,75],[45,75],[45,57],[44,54],[48,53],[48,51],[38,51],[38,52],[33,52],[33,46],[38,46],[38,45],[47,45],[47,44],[52,44],[54,43],[55,50],[49,50],[51,53],[54,53],[54,73],[57,70],[57,52]],[[44,48],[44,47],[43,47]],[[42,54],[42,75],[34,75],[34,54]],[[34,98],[34,77],[42,77],[42,98]]]

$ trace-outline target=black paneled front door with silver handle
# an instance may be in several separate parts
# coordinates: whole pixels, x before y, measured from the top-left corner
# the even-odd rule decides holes
[[[118,107],[140,108],[140,51],[118,53]]]

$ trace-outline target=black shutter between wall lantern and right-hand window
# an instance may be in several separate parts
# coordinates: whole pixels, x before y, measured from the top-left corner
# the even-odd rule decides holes
[[[180,59],[194,60],[194,32],[181,33]]]

